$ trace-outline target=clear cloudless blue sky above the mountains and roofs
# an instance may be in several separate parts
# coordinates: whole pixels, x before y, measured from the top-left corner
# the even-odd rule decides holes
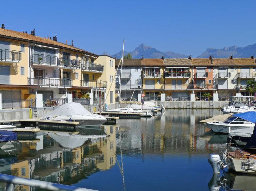
[[[256,43],[255,0],[1,1],[7,29],[54,36],[110,55],[144,43],[162,52],[200,55],[206,48]]]

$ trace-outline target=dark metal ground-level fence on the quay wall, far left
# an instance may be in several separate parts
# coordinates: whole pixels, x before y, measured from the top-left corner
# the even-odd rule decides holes
[[[36,107],[36,99],[2,100],[2,109]]]

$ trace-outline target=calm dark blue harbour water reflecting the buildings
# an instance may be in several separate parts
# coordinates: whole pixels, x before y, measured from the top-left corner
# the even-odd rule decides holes
[[[224,149],[227,136],[199,121],[219,114],[169,109],[101,129],[41,131],[36,140],[1,149],[0,172],[96,190],[209,190],[208,156]]]

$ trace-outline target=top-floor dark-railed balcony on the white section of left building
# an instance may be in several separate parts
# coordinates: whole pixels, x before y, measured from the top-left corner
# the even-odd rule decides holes
[[[31,65],[46,65],[52,67],[65,67],[65,62],[57,56],[48,56],[44,54],[32,54],[30,55]]]

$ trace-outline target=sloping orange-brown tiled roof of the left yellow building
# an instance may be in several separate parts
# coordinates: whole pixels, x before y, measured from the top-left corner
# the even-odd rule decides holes
[[[79,51],[79,52],[83,52],[83,53],[86,53],[86,54],[98,56],[97,54],[85,51],[83,49],[80,49],[80,48],[77,48],[77,47],[74,47],[74,46],[66,45],[64,43],[60,43],[60,42],[57,42],[57,41],[54,41],[54,40],[51,40],[51,39],[43,38],[43,37],[40,37],[40,36],[33,36],[31,34],[18,32],[18,31],[14,31],[14,30],[0,28],[0,36],[1,37],[7,37],[7,38],[15,38],[15,39],[19,39],[19,40],[28,41],[28,42],[42,43],[42,44],[45,44],[45,45],[48,45],[48,46],[60,47],[60,48],[70,49],[70,50],[73,50],[73,51]]]

